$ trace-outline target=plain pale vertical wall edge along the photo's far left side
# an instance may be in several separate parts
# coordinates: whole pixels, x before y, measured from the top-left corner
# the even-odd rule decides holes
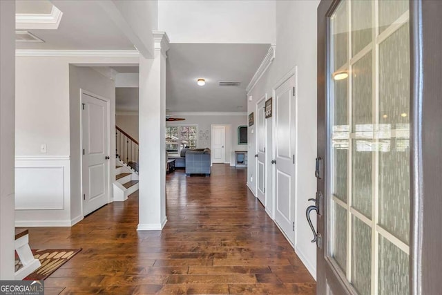
[[[0,1],[0,280],[14,279],[15,1]]]

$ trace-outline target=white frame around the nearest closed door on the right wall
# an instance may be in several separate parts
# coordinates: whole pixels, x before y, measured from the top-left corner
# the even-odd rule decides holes
[[[298,210],[298,66],[294,66],[293,68],[291,68],[291,70],[289,70],[289,72],[287,74],[285,74],[273,87],[272,87],[272,93],[273,93],[273,101],[272,101],[272,110],[273,110],[273,115],[272,115],[272,120],[273,120],[273,126],[272,126],[272,142],[273,142],[273,151],[272,151],[272,158],[276,159],[276,133],[275,133],[275,115],[276,112],[275,111],[275,104],[276,104],[276,89],[279,88],[279,86],[281,86],[282,84],[284,84],[288,79],[290,79],[291,77],[295,77],[295,145],[294,145],[294,161],[295,161],[295,167],[294,167],[294,173],[295,173],[295,177],[294,177],[294,196],[293,196],[293,202],[294,202],[294,222],[295,222],[295,231],[294,231],[294,236],[293,236],[293,241],[290,240],[290,238],[288,238],[285,234],[284,231],[281,232],[282,234],[287,238],[287,240],[289,241],[289,243],[294,247],[294,249],[296,249],[296,243],[297,243],[297,238],[298,238],[298,228],[297,228],[297,224],[296,224],[296,218],[297,216],[297,210]],[[276,215],[275,215],[275,208],[276,208],[276,165],[271,165],[271,173],[272,173],[272,180],[273,180],[273,210],[272,210],[272,214],[273,214],[273,220],[276,219]],[[275,224],[280,227],[278,225],[277,222],[275,222]]]

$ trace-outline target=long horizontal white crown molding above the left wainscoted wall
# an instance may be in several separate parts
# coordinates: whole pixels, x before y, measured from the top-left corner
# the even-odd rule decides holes
[[[17,49],[17,57],[139,57],[137,50],[32,50]]]

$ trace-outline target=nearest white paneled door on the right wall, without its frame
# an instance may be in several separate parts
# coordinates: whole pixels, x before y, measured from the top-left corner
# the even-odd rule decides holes
[[[294,243],[295,212],[295,76],[275,91],[275,221]]]

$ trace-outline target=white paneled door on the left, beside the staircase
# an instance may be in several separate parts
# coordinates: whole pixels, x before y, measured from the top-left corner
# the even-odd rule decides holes
[[[83,214],[109,200],[108,103],[81,93]]]

